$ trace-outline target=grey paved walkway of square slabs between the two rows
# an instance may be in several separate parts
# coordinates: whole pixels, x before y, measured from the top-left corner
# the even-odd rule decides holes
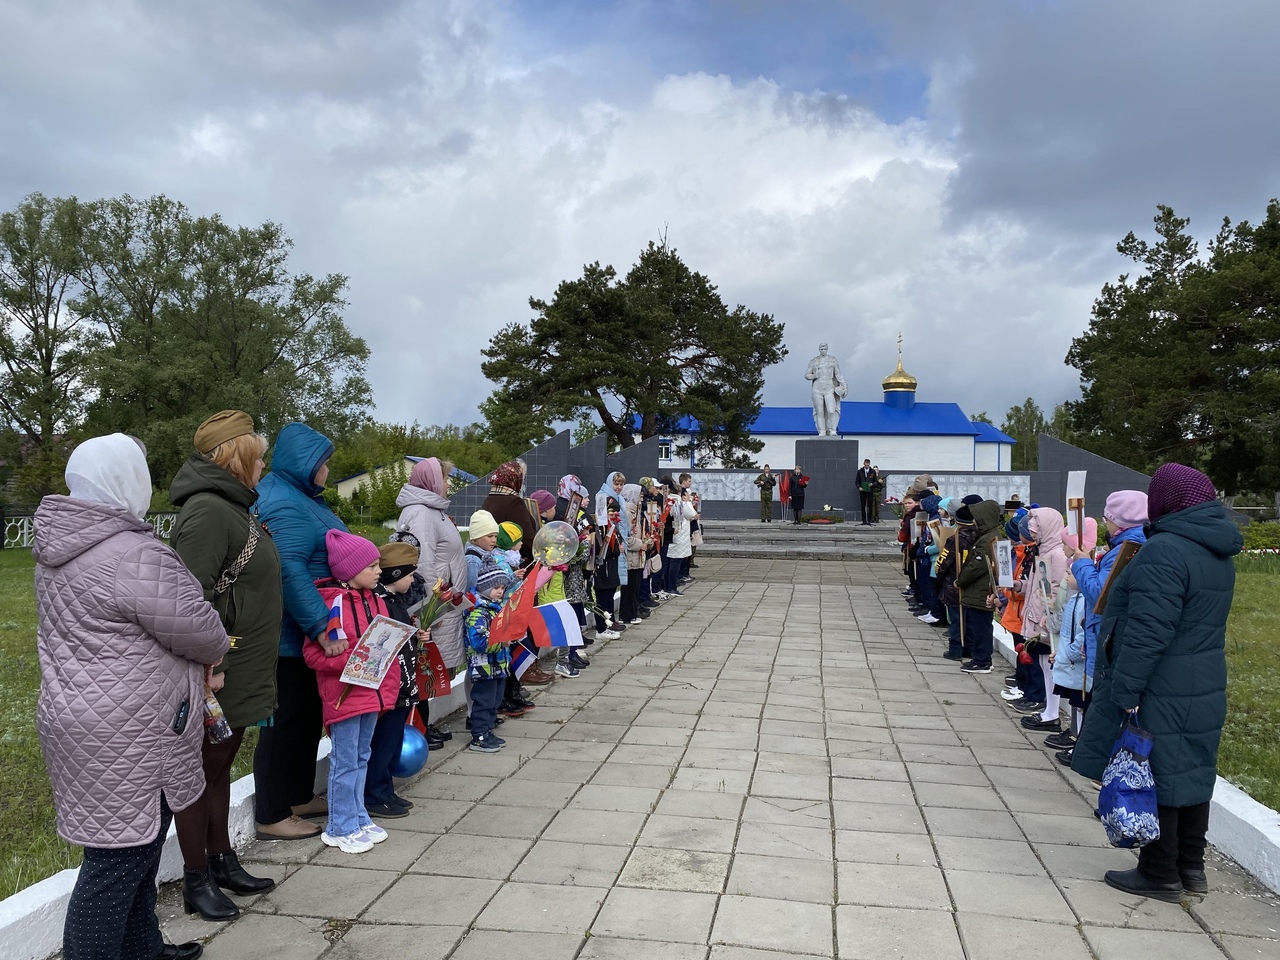
[[[280,881],[211,960],[1234,960],[1280,905],[1231,864],[1178,906],[1102,872],[1093,792],[940,657],[887,563],[713,561],[689,596],[452,749],[362,856],[256,844]],[[722,579],[730,577],[733,579]],[[456,719],[453,726],[461,726]]]

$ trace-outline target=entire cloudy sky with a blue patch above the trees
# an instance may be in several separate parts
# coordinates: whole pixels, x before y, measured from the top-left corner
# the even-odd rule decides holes
[[[1280,195],[1274,0],[0,0],[0,207],[166,193],[351,276],[378,415],[476,419],[527,298],[664,228],[851,399],[998,422],[1156,204]],[[1272,64],[1267,67],[1267,64]]]

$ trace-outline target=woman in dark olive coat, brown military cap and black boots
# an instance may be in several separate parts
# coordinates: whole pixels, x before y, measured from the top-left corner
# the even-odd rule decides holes
[[[252,513],[265,453],[266,438],[253,433],[252,417],[225,410],[196,430],[196,453],[169,488],[169,499],[179,508],[170,545],[196,575],[230,636],[230,650],[214,668],[210,687],[232,736],[220,744],[204,741],[205,792],[174,815],[186,867],[183,900],[188,913],[198,911],[206,920],[239,913],[224,890],[256,893],[274,886],[239,865],[227,824],[232,763],[244,728],[275,710],[280,556]],[[198,709],[193,708],[197,722]]]

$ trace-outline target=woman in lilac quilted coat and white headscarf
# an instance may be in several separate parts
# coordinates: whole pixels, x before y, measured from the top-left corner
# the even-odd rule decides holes
[[[70,497],[36,509],[36,728],[58,833],[84,846],[65,960],[196,957],[164,942],[156,870],[173,818],[205,788],[205,678],[227,631],[200,584],[143,521],[151,475],[124,434],[67,462]]]

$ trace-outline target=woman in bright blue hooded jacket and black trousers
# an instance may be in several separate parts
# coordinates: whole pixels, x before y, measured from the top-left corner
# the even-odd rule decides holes
[[[262,727],[253,754],[253,808],[259,840],[315,837],[329,805],[315,795],[316,749],[324,721],[316,675],[302,659],[302,641],[320,637],[329,608],[315,581],[329,576],[325,534],[346,525],[325,504],[333,443],[306,424],[275,438],[271,472],[257,485],[257,516],[280,553],[284,618],[275,680],[279,705]]]

